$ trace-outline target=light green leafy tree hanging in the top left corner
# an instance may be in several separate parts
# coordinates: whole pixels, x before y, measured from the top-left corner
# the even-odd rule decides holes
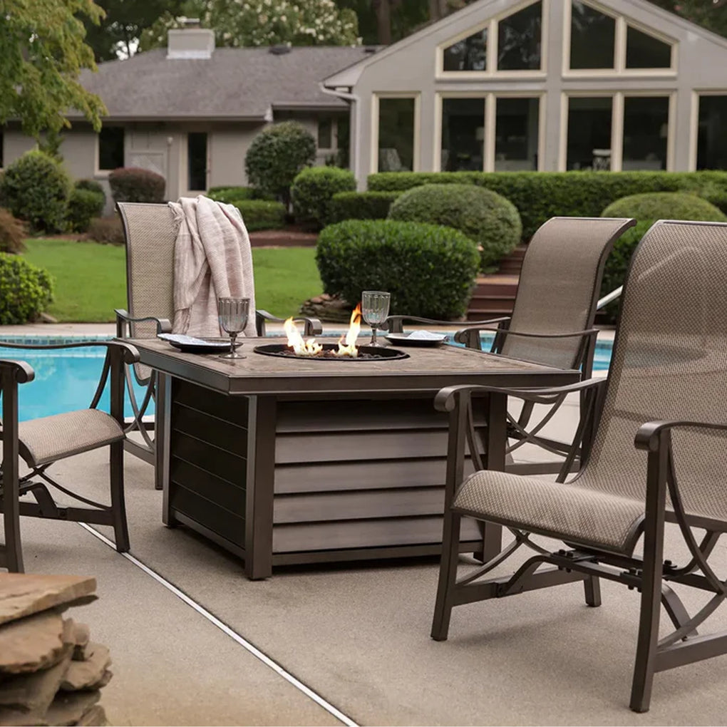
[[[79,16],[102,15],[93,0],[0,0],[0,124],[20,119],[37,139],[70,126],[75,108],[101,128],[103,102],[79,83],[81,68],[96,67]]]

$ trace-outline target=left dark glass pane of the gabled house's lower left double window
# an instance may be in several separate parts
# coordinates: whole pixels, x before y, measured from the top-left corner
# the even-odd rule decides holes
[[[442,172],[483,169],[485,100],[442,99]]]

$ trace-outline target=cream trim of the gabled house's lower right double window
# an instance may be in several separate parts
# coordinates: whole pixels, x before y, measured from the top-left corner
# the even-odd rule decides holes
[[[569,99],[581,98],[611,98],[611,172],[621,172],[624,163],[624,108],[625,99],[639,98],[668,98],[669,109],[667,116],[667,168],[666,172],[673,172],[676,154],[676,91],[660,91],[649,89],[647,91],[573,91],[563,92],[561,95],[561,143],[558,153],[558,171],[565,172],[568,164],[568,109]],[[696,165],[696,146],[694,147]]]

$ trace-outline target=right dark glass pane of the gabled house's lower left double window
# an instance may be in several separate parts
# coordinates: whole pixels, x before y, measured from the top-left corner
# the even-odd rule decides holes
[[[498,98],[495,121],[495,171],[538,168],[539,98]]]

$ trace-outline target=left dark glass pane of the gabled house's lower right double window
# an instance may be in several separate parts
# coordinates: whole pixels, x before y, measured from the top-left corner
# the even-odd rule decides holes
[[[611,169],[611,97],[571,97],[566,169]]]

